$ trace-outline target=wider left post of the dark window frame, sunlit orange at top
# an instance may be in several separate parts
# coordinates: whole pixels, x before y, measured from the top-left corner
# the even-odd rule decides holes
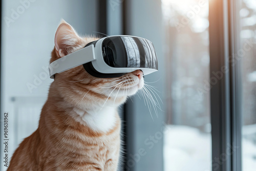
[[[231,171],[231,155],[227,154],[231,146],[227,0],[209,1],[209,38],[212,170]]]

